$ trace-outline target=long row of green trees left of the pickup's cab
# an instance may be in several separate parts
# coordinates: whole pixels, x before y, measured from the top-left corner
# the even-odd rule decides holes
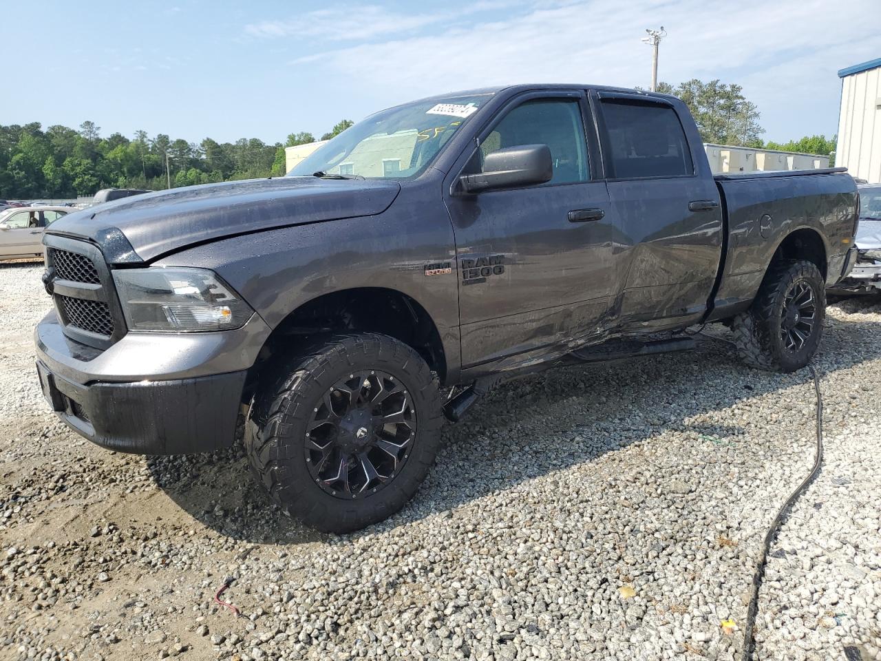
[[[352,125],[337,123],[325,140]],[[227,182],[285,174],[285,146],[314,142],[310,133],[292,133],[285,144],[268,145],[255,137],[218,143],[150,137],[138,130],[100,136],[100,127],[79,129],[40,123],[0,125],[0,198],[90,196],[102,188],[159,190],[197,183]]]

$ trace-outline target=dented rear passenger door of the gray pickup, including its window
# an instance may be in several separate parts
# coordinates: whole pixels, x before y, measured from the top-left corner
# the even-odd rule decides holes
[[[690,120],[680,121],[678,101],[601,92],[592,102],[623,233],[619,324],[639,331],[693,323],[713,290],[723,231],[700,136]]]

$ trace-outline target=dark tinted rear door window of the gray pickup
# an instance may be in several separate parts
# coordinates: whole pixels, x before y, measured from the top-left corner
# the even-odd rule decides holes
[[[693,175],[685,130],[669,106],[603,100],[614,179]]]

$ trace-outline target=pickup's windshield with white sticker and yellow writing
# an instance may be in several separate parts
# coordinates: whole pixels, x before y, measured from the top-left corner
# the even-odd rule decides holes
[[[329,140],[287,175],[415,177],[489,97],[456,96],[382,110]]]

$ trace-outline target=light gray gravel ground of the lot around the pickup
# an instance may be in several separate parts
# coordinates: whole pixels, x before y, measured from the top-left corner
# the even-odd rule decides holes
[[[122,455],[58,423],[40,274],[0,265],[0,657],[738,657],[761,539],[813,462],[807,370],[707,339],[508,383],[403,512],[325,536],[238,450]],[[761,659],[881,659],[881,304],[829,315],[825,463],[768,564]]]

